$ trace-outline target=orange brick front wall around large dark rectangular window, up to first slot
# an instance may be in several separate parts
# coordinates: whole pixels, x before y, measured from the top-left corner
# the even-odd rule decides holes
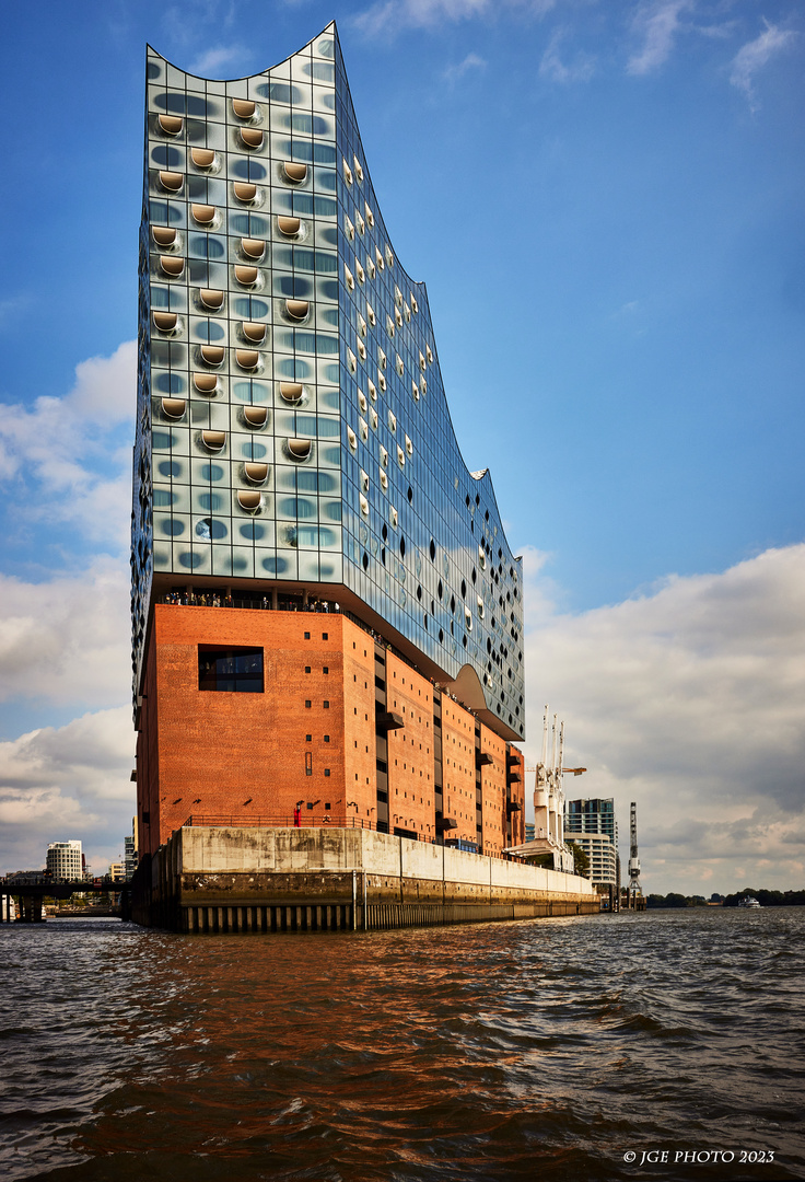
[[[264,693],[200,690],[200,644],[261,647]],[[148,758],[142,773],[138,764],[138,779],[151,823],[143,827],[144,851],[163,844],[190,814],[291,823],[296,801],[304,800],[303,823],[320,823],[326,805],[333,823],[374,819],[374,652],[349,619],[161,604],[145,682],[138,751]]]

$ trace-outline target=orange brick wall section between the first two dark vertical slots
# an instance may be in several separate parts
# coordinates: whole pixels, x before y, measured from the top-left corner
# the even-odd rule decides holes
[[[387,649],[388,709],[405,726],[389,730],[389,832],[395,826],[436,836],[434,803],[433,687]]]

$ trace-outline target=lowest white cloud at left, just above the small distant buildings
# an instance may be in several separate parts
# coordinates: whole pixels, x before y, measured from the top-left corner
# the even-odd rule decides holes
[[[0,872],[39,869],[78,838],[100,873],[131,831],[131,712],[122,706],[0,742]]]

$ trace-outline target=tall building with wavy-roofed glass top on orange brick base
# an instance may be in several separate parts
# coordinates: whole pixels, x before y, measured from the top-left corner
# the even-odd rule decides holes
[[[148,50],[137,845],[189,817],[524,840],[522,566],[461,457],[335,25],[214,82]]]

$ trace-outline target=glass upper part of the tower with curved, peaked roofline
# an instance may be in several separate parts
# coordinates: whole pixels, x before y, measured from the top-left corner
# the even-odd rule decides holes
[[[235,82],[149,48],[144,176],[135,695],[155,585],[342,589],[521,739],[521,563],[461,457],[335,25]]]

